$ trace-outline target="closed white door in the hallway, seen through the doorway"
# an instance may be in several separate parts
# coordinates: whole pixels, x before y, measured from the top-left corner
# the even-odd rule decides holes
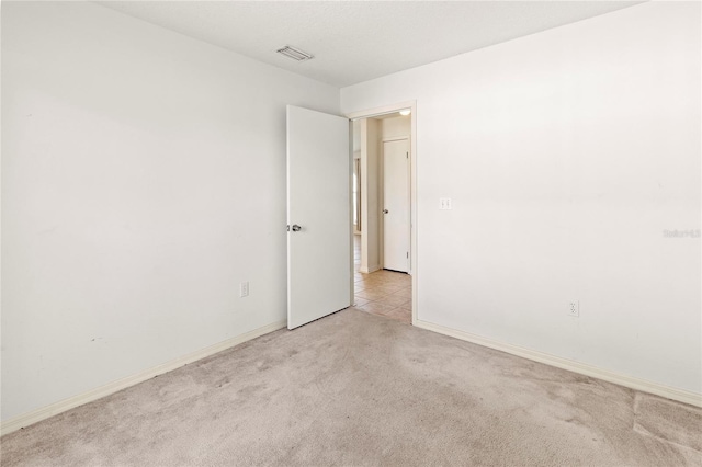
[[[409,140],[383,143],[383,267],[409,272]]]

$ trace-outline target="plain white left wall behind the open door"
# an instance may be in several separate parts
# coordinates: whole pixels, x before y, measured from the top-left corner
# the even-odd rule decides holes
[[[339,90],[3,2],[3,420],[285,319],[285,104],[338,113]]]

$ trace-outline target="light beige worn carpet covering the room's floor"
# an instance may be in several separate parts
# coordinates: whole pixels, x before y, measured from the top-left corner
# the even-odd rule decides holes
[[[699,466],[702,410],[348,309],[1,440],[2,466]]]

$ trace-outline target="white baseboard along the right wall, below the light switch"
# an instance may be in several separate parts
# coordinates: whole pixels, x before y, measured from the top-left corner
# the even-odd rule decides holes
[[[593,365],[589,365],[587,363],[576,362],[573,360],[559,357],[556,355],[551,355],[544,352],[520,348],[518,345],[508,344],[508,343],[496,341],[489,338],[472,334],[469,332],[460,331],[453,328],[446,328],[444,326],[434,324],[428,321],[416,320],[415,322],[412,322],[412,324],[418,328],[438,332],[440,334],[445,334],[452,338],[461,339],[462,341],[472,342],[474,344],[483,345],[483,346],[502,351],[512,355],[533,360],[534,362],[544,363],[546,365],[567,369],[574,373],[579,373],[586,376],[591,376],[593,378],[603,379],[605,381],[614,383],[616,385],[624,386],[631,389],[654,394],[656,396],[689,403],[691,406],[702,407],[702,394],[692,392],[686,389],[673,388],[670,386],[665,386],[659,383],[654,383],[646,379],[635,378],[633,376],[627,376],[620,373],[611,372],[609,369],[603,369]]]

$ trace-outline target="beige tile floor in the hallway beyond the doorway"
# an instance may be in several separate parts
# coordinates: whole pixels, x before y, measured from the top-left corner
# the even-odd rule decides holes
[[[396,321],[412,322],[412,281],[409,274],[393,271],[359,272],[361,237],[354,236],[355,307]]]

